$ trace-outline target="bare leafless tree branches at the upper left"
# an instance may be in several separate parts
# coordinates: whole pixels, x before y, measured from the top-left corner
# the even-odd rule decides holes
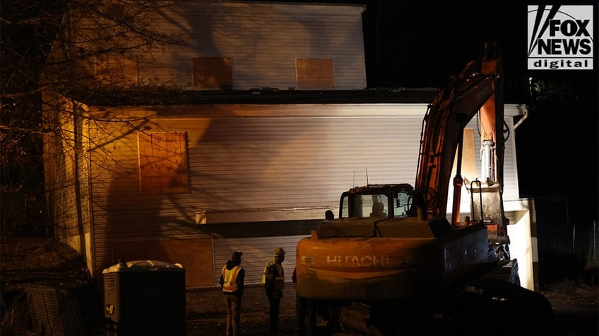
[[[4,0],[1,3],[0,164],[3,233],[47,222],[43,215],[42,137],[76,147],[73,131],[42,121],[54,109],[67,119],[93,118],[76,102],[135,104],[167,83],[131,76],[136,54],[184,44],[182,35],[153,28],[153,13],[177,1]],[[174,91],[170,88],[170,91]],[[50,94],[48,94],[50,93]],[[62,97],[57,100],[57,97]],[[66,102],[65,102],[66,98]],[[59,102],[59,103],[57,103]],[[132,122],[123,116],[106,116]],[[61,120],[61,119],[57,119]],[[71,140],[71,141],[69,141]],[[79,148],[72,148],[77,152]]]

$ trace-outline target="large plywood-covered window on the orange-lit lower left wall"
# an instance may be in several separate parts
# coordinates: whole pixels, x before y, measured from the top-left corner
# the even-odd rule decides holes
[[[138,133],[141,193],[186,193],[186,133]]]

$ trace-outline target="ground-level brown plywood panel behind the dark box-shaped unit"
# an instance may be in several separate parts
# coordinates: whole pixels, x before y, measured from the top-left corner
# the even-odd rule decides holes
[[[119,259],[180,263],[185,268],[186,287],[206,287],[215,284],[211,237],[113,241],[112,256],[114,263]]]

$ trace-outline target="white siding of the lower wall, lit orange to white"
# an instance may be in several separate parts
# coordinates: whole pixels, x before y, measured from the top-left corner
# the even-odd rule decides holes
[[[117,110],[108,107],[101,113],[153,114],[152,122],[138,127],[147,132],[187,133],[191,190],[141,195],[136,133],[119,128],[111,130],[114,138],[93,137],[93,143],[105,144],[93,151],[91,169],[100,267],[112,265],[114,239],[210,234],[194,224],[196,210],[207,211],[208,224],[318,220],[325,209],[336,209],[340,193],[352,186],[413,184],[427,104],[231,104]],[[511,116],[517,113],[516,107],[506,107],[510,126]],[[505,161],[504,199],[514,200],[518,187],[513,137],[506,143]],[[461,208],[465,214],[470,206],[463,203]],[[276,246],[295,251],[297,240],[285,234],[269,239],[215,236],[215,270],[232,251],[242,250],[249,253],[246,260],[256,260],[256,265],[251,264],[254,261],[247,265],[250,274],[259,272]],[[287,260],[292,264],[295,259],[288,255]]]

